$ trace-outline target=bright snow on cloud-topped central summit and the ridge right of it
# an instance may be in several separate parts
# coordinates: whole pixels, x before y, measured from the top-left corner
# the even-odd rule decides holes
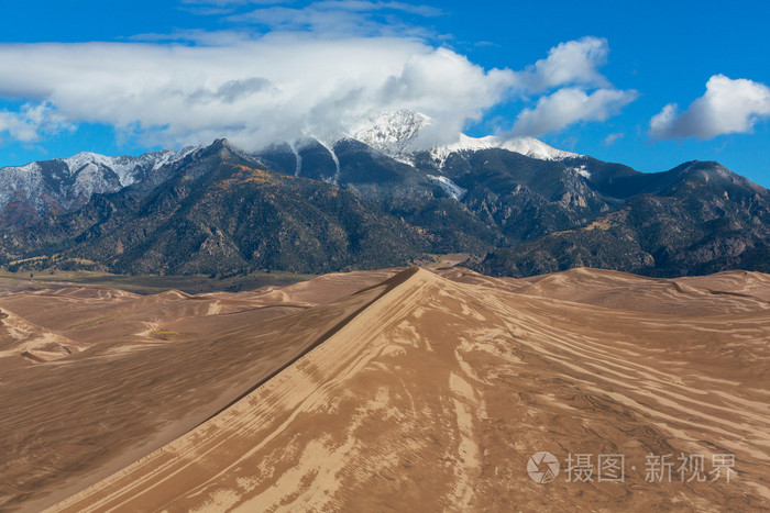
[[[370,118],[352,132],[352,137],[374,149],[406,164],[413,163],[413,155],[420,149],[417,137],[432,120],[419,112],[399,110]],[[455,152],[502,148],[542,160],[562,160],[581,155],[557,149],[534,137],[469,137],[460,134],[457,142],[432,147],[431,157],[443,165],[447,157]]]

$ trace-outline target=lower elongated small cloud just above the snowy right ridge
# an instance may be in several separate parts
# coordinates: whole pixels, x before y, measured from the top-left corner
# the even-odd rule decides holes
[[[587,93],[564,88],[540,98],[534,109],[525,109],[516,119],[516,135],[543,135],[580,121],[605,121],[637,98],[636,91],[598,89]]]

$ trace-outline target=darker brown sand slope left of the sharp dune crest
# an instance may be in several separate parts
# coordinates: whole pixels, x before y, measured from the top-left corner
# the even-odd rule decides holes
[[[328,295],[324,280],[300,287],[301,301],[292,288],[96,304],[51,292],[4,298],[4,308],[85,349],[0,370],[0,509],[51,505],[191,430],[339,330],[387,289],[376,285],[389,275],[348,277],[338,288],[349,293],[324,304],[311,294],[320,287]],[[21,322],[9,319],[15,324],[6,328]],[[29,345],[11,342],[8,353]]]

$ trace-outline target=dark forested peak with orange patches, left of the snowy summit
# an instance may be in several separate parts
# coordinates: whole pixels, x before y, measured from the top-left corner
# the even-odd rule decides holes
[[[143,180],[96,194],[4,244],[131,274],[384,267],[418,258],[426,247],[417,228],[351,192],[263,169],[224,141],[193,153],[160,185]]]

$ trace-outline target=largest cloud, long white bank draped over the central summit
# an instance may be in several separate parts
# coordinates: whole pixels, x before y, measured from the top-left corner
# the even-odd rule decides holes
[[[512,82],[512,71],[487,71],[405,38],[0,46],[0,96],[50,102],[67,120],[106,123],[163,144],[228,136],[256,148],[332,136],[373,112],[402,108],[460,131],[502,101]]]

